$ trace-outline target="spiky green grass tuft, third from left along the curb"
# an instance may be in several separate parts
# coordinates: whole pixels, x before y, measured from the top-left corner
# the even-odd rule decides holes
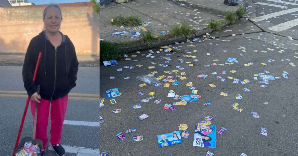
[[[170,29],[170,36],[179,36],[184,35],[185,38],[189,38],[190,34],[194,34],[196,32],[195,29],[192,29],[186,22],[182,22],[179,26],[174,26]]]

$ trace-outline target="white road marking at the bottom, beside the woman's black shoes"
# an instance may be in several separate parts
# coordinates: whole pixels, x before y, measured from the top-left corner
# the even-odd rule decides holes
[[[99,149],[89,149],[85,147],[62,145],[67,153],[75,153],[77,156],[99,156]],[[52,145],[49,145],[50,151],[55,151]]]

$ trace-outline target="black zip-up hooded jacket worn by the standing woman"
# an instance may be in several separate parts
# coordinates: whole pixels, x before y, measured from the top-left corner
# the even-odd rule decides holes
[[[42,31],[33,37],[29,43],[23,65],[24,87],[31,97],[40,85],[40,96],[45,100],[56,100],[66,96],[76,86],[79,62],[75,47],[68,38],[63,35],[61,44],[55,49],[46,32]],[[38,73],[33,83],[33,73],[41,52]]]

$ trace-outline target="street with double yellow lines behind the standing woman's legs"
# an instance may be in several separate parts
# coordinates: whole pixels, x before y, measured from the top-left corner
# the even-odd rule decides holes
[[[22,67],[0,67],[1,155],[11,155],[26,104]],[[99,155],[99,68],[82,67],[77,86],[69,94],[61,144],[70,156]],[[18,91],[18,92],[16,92]],[[50,123],[50,122],[49,122]],[[49,136],[48,126],[48,137]],[[32,115],[27,111],[21,139],[32,137]],[[72,147],[71,147],[72,146]],[[55,155],[51,148],[45,156]]]

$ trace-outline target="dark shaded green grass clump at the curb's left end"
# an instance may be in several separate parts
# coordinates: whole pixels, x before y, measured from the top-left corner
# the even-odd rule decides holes
[[[118,59],[121,55],[119,46],[117,44],[114,44],[108,41],[100,41],[99,48],[100,48],[100,61]]]

